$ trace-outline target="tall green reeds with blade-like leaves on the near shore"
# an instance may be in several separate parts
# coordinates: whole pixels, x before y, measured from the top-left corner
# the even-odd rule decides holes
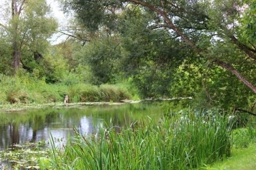
[[[214,113],[216,114],[216,113]],[[186,112],[129,128],[100,128],[91,136],[74,130],[55,147],[46,169],[196,169],[228,157],[232,123],[226,117]],[[70,133],[71,134],[71,133]]]

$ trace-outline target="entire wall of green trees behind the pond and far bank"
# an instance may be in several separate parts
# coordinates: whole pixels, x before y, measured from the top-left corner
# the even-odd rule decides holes
[[[53,46],[46,2],[12,2],[22,15],[9,10],[0,25],[2,74],[20,72],[17,44],[18,69],[46,83],[124,82],[140,98],[192,97],[204,108],[255,102],[254,1],[62,0],[68,38]]]

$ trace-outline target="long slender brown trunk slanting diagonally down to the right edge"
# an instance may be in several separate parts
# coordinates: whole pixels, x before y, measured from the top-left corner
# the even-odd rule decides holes
[[[202,49],[198,48],[193,41],[191,41],[189,39],[189,37],[187,37],[185,34],[183,34],[178,28],[175,27],[175,25],[172,23],[172,21],[170,20],[170,18],[161,10],[158,10],[157,8],[149,5],[146,2],[141,2],[138,0],[126,0],[126,2],[133,2],[135,4],[139,4],[145,7],[148,7],[150,10],[158,13],[159,15],[163,16],[163,18],[165,19],[165,21],[167,22],[167,24],[169,25],[169,28],[171,28],[173,31],[175,31],[181,38],[183,38],[183,40],[185,40],[188,45],[190,45],[192,48],[194,48],[194,50],[202,57],[207,58],[208,60],[213,60],[213,58],[208,57],[207,54],[209,54],[210,56],[210,52],[203,52]],[[234,40],[234,37],[232,37]],[[238,44],[239,47],[242,48],[241,44]],[[243,47],[245,48],[245,47]],[[246,52],[249,52],[249,50],[247,50]],[[250,52],[251,54],[251,52]],[[251,58],[255,58],[254,54],[249,55],[249,57]],[[223,63],[221,61],[215,61],[216,64],[218,64],[219,66],[221,66],[223,69],[233,73],[239,80],[241,80],[247,87],[249,87],[255,94],[256,94],[256,87],[254,86],[254,84],[252,84],[249,80],[245,79],[244,76],[242,74],[240,74],[238,71],[236,71],[233,67],[231,67],[230,65]]]

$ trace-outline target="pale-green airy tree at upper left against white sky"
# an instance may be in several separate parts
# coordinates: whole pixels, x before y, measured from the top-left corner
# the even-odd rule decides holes
[[[1,40],[7,38],[6,46],[12,44],[12,61],[14,74],[22,63],[29,70],[24,60],[42,56],[49,46],[49,38],[58,27],[51,16],[51,8],[45,0],[12,0],[6,2],[2,11],[6,12],[5,23],[0,23]],[[22,62],[23,61],[23,62]]]

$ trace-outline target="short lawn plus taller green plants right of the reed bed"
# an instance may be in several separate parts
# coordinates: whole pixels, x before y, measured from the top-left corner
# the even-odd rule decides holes
[[[237,128],[230,135],[232,149],[230,157],[213,165],[205,165],[203,169],[236,170],[256,169],[256,129],[255,117],[250,117],[250,122],[245,128]]]

